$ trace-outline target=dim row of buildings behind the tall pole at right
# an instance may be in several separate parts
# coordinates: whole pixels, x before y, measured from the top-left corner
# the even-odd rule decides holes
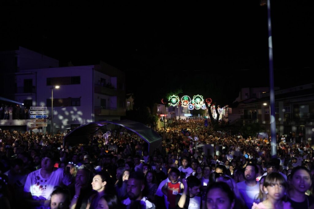
[[[269,92],[248,98],[228,109],[229,123],[260,123],[270,133]],[[305,142],[314,140],[314,83],[275,91],[276,132],[295,134]]]

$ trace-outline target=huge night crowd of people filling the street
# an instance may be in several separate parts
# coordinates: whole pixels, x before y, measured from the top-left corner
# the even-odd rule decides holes
[[[151,151],[125,128],[76,146],[63,146],[65,133],[0,129],[0,208],[314,208],[309,144],[279,140],[272,158],[268,139],[202,118],[157,133],[162,148]]]

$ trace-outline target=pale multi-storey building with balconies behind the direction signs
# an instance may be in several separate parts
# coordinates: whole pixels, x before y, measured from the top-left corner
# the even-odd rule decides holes
[[[35,57],[38,54],[29,53]],[[16,53],[12,55],[16,56]],[[26,67],[17,69],[13,98],[16,102],[24,103],[24,107],[47,107],[48,126],[43,128],[44,132],[51,130],[52,87],[57,85],[60,88],[53,89],[54,132],[89,122],[120,120],[121,116],[125,116],[125,74],[122,71],[104,62],[100,62],[100,65],[52,67],[49,63],[54,59],[45,59],[48,65],[39,61],[34,68],[26,63]],[[53,64],[58,65],[58,62]],[[37,68],[39,66],[46,67]],[[1,119],[1,126],[26,126],[25,130],[31,129],[29,118],[14,120],[10,116],[9,120]]]

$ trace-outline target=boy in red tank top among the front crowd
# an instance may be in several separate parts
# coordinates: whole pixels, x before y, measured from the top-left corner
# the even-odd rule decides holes
[[[167,196],[167,200],[169,201],[169,209],[176,208],[176,195],[178,193],[182,193],[184,186],[178,181],[180,178],[180,171],[176,168],[173,168],[170,173],[170,182],[167,182],[162,187],[162,192]]]

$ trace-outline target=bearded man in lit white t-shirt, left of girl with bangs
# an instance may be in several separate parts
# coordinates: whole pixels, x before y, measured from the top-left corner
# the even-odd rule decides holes
[[[248,164],[244,170],[245,181],[237,183],[239,192],[241,193],[246,206],[252,208],[254,198],[259,194],[258,168],[256,165]]]

